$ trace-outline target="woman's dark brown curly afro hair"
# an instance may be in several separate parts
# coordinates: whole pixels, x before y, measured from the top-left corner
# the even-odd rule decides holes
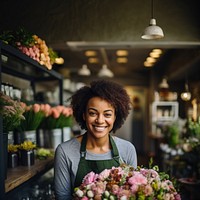
[[[70,98],[71,106],[75,120],[85,130],[87,127],[83,113],[86,112],[88,101],[93,97],[100,97],[115,108],[116,120],[112,129],[115,133],[124,124],[131,110],[131,100],[126,90],[121,85],[108,80],[92,81],[90,86],[83,86],[77,90]]]

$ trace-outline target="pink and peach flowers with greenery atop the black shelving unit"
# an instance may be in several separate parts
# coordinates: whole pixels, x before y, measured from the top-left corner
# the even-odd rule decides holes
[[[52,69],[55,59],[58,58],[57,53],[52,48],[48,48],[45,40],[24,28],[19,28],[16,31],[4,31],[0,34],[0,40],[18,48],[49,70]]]

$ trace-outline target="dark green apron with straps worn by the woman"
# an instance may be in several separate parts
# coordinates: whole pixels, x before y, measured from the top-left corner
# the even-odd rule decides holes
[[[86,156],[87,133],[84,134],[82,142],[81,142],[81,149],[80,149],[81,158],[80,158],[78,170],[76,173],[74,187],[80,186],[85,175],[87,175],[91,171],[99,174],[104,169],[111,169],[112,167],[120,166],[119,152],[118,152],[117,146],[112,136],[109,136],[109,139],[110,139],[110,144],[111,144],[112,154],[113,154],[112,159],[86,160],[85,156]]]

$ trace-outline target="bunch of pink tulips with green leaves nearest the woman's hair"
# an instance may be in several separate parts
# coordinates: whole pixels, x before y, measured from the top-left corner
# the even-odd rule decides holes
[[[41,128],[52,130],[56,128],[70,127],[73,122],[72,108],[58,105],[51,107],[48,116],[44,119]]]

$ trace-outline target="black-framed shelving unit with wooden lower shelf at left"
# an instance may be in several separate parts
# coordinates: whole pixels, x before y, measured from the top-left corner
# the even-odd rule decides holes
[[[48,70],[45,66],[40,65],[37,61],[29,58],[18,49],[4,44],[0,41],[0,87],[2,87],[2,73],[13,77],[21,78],[30,82],[35,92],[35,84],[44,81],[58,81],[59,86],[59,104],[63,104],[63,77],[54,70]],[[0,116],[0,163],[4,163],[4,142],[2,117]],[[30,180],[35,175],[45,172],[53,166],[53,160],[37,161],[36,165],[25,170],[18,168],[9,170],[5,180],[5,167],[0,167],[0,197],[5,199],[6,192],[20,186],[25,181]],[[20,171],[21,170],[21,171]],[[19,177],[20,171],[20,177]]]

